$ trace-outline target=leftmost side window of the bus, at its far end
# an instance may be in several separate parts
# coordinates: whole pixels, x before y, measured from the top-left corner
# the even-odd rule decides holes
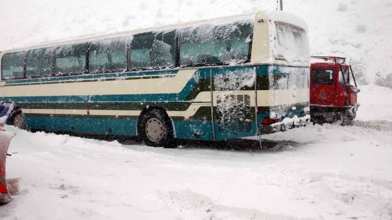
[[[26,52],[4,54],[2,57],[2,79],[20,79],[24,77]]]

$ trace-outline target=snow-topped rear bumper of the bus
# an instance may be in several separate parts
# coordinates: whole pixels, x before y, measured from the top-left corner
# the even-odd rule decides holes
[[[292,118],[284,118],[281,122],[274,123],[272,125],[261,125],[260,135],[272,134],[275,132],[284,132],[289,129],[304,127],[310,123],[310,115],[307,114],[303,117],[298,118],[294,116]]]

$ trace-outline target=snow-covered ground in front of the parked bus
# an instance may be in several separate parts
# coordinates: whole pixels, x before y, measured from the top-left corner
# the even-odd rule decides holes
[[[308,126],[238,150],[17,135],[0,219],[391,219],[392,123]]]

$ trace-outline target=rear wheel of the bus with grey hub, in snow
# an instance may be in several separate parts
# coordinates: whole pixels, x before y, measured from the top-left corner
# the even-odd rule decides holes
[[[141,117],[140,132],[147,146],[172,147],[174,145],[170,119],[161,109],[152,109]]]

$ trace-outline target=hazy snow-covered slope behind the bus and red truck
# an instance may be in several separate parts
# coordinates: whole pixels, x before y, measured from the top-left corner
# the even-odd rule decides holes
[[[313,55],[350,58],[362,84],[391,72],[391,0],[284,0],[309,25]],[[0,50],[276,8],[275,0],[2,1]]]

